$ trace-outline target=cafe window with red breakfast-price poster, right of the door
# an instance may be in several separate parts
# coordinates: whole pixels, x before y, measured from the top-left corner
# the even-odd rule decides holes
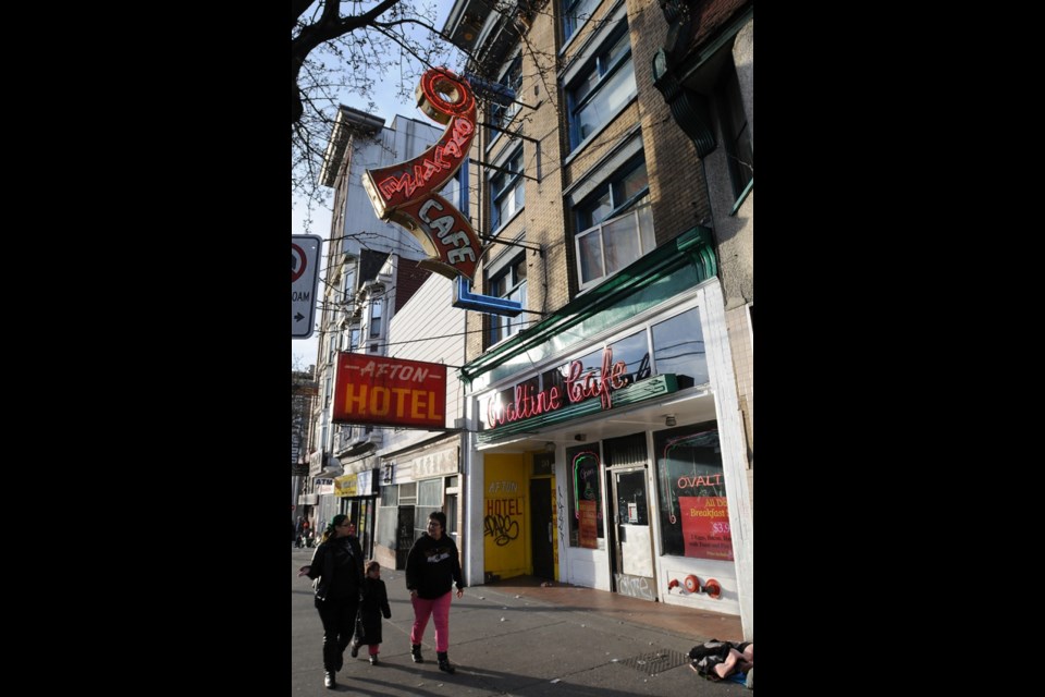
[[[653,435],[663,554],[733,561],[733,536],[714,421]]]

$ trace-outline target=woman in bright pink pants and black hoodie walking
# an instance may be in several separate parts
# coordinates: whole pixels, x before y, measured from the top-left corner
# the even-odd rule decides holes
[[[406,558],[406,588],[414,603],[414,627],[410,629],[410,653],[415,663],[422,663],[421,639],[428,619],[435,624],[435,655],[439,670],[454,672],[446,651],[450,648],[450,594],[457,586],[457,597],[465,594],[460,579],[457,545],[445,535],[446,514],[435,511],[428,516],[428,531],[421,535]]]

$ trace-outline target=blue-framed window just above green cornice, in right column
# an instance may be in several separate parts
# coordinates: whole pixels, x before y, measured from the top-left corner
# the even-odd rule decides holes
[[[639,152],[575,207],[581,231],[574,239],[581,290],[597,285],[656,246],[653,213],[647,205],[649,193],[646,159]]]

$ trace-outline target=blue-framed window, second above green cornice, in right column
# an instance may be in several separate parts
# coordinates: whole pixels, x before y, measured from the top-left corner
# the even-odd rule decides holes
[[[570,150],[610,123],[637,94],[627,23],[566,86]]]

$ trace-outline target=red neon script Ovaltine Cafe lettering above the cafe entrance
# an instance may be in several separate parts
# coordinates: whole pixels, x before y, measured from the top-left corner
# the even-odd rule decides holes
[[[563,390],[553,386],[534,394],[533,388],[524,383],[515,386],[514,402],[502,404],[500,400],[490,400],[487,405],[487,426],[496,428],[502,424],[540,416],[554,412],[567,401],[576,404],[593,396],[599,398],[603,409],[608,409],[613,406],[613,390],[619,390],[629,382],[628,378],[623,377],[628,366],[624,360],[613,363],[613,348],[610,346],[602,351],[601,370],[593,369],[582,375],[583,369],[580,360],[570,362]]]

